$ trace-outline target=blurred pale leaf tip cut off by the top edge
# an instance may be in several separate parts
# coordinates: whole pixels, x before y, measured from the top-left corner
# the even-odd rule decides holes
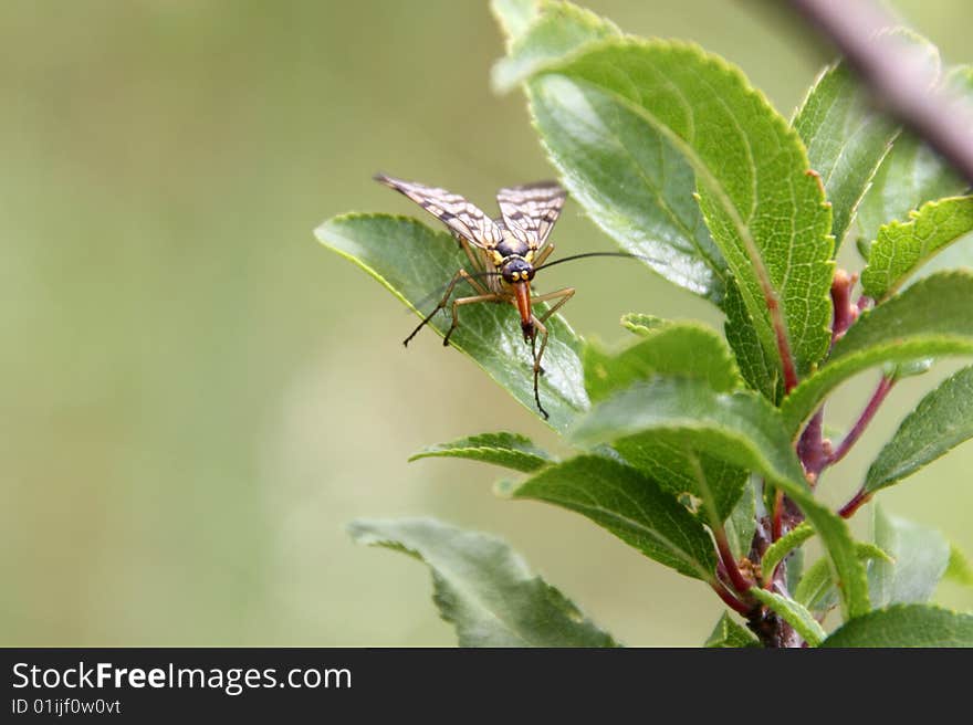
[[[621,34],[610,21],[569,2],[543,2],[540,15],[520,30],[508,56],[493,66],[496,92],[510,91],[585,43]]]

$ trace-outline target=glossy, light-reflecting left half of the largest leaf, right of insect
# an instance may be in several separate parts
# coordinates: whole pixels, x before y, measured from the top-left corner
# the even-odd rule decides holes
[[[662,277],[719,302],[726,263],[680,151],[597,88],[552,76],[531,83],[530,98],[547,155],[588,217]]]

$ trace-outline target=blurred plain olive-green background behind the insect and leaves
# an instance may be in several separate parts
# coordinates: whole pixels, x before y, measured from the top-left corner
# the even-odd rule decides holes
[[[827,57],[761,3],[588,6],[726,56],[786,116]],[[967,0],[898,7],[973,61]],[[557,443],[435,335],[405,350],[415,319],[312,235],[349,210],[422,216],[377,170],[488,208],[550,176],[523,97],[489,90],[502,46],[485,0],[0,3],[0,643],[451,644],[425,568],[344,533],[417,514],[505,536],[627,643],[705,638],[720,603],[699,582],[574,514],[494,498],[499,469],[406,463],[499,429]],[[556,235],[611,248],[571,202]],[[579,286],[565,312],[586,335],[622,338],[628,311],[720,324],[638,264],[548,274]],[[932,377],[894,393],[828,501]],[[973,554],[971,467],[966,445],[883,500]]]

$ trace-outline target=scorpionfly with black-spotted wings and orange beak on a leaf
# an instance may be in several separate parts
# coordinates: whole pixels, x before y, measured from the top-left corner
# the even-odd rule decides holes
[[[537,389],[538,376],[544,371],[541,360],[547,347],[547,327],[544,323],[571,300],[575,291],[574,287],[564,287],[534,295],[531,283],[536,270],[544,265],[554,251],[554,245],[547,243],[547,238],[564,206],[567,196],[565,190],[555,181],[501,189],[496,192],[501,216],[491,219],[463,197],[446,189],[381,174],[376,175],[375,179],[406,195],[443,222],[472,265],[472,272],[464,269],[457,271],[447,284],[439,304],[419,323],[404,344],[408,346],[436,313],[447,308],[450,295],[461,282],[468,283],[475,294],[453,300],[450,306],[452,323],[442,338],[444,346],[449,345],[449,338],[459,327],[459,309],[463,305],[480,302],[513,304],[520,313],[524,342],[531,346],[534,361],[534,401],[546,420],[548,414],[541,404]],[[533,312],[533,305],[538,302],[552,303],[540,316]]]

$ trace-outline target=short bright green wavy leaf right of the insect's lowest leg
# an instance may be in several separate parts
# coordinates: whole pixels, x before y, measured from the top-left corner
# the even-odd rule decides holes
[[[614,354],[595,343],[585,346],[585,386],[592,401],[656,375],[697,378],[719,392],[742,385],[726,343],[705,325],[671,323],[646,330],[644,337]]]

